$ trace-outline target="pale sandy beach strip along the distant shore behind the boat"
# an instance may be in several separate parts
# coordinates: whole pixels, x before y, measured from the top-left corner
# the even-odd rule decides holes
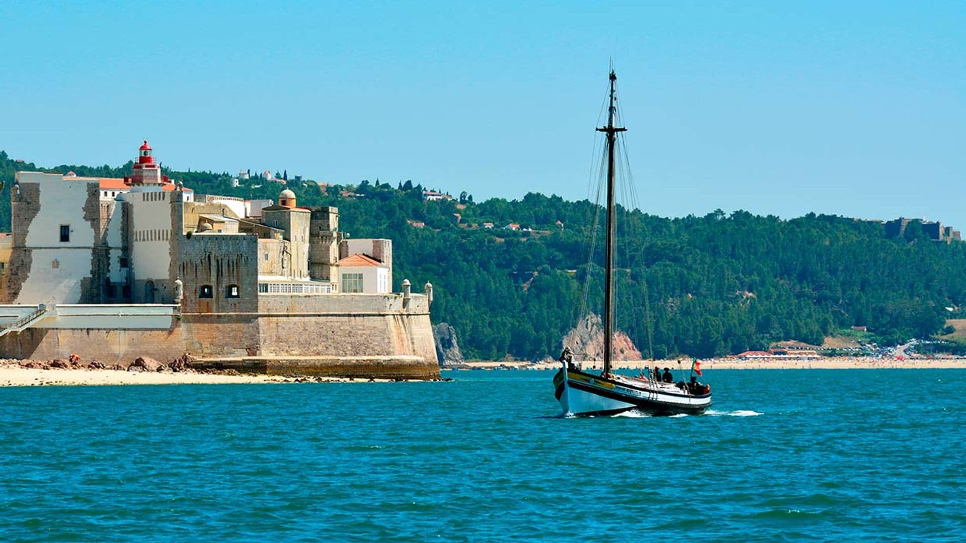
[[[739,360],[736,358],[711,358],[700,360],[701,371],[715,369],[966,369],[966,358],[872,358],[872,357],[822,357],[795,358],[780,360]],[[583,362],[583,369],[599,370],[601,362]],[[620,360],[614,369],[641,370],[645,367],[660,366],[678,369],[677,359],[673,360]],[[519,362],[519,361],[478,361],[465,362],[459,366],[442,366],[442,369],[455,370],[492,370],[492,369],[533,369],[549,370],[560,367],[559,362]],[[682,358],[680,369],[689,371],[691,359]]]

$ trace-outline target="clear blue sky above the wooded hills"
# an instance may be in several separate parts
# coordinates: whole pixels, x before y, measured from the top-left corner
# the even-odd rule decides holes
[[[966,229],[966,2],[5,2],[0,149],[587,193],[618,71],[640,207]]]

